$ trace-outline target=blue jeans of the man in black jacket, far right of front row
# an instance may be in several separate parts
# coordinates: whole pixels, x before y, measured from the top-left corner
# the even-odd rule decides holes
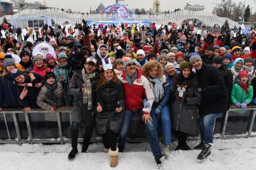
[[[213,144],[213,126],[214,121],[217,117],[222,115],[220,114],[209,114],[202,117],[199,121],[200,131],[201,131],[201,139],[204,139],[204,142],[207,144]]]

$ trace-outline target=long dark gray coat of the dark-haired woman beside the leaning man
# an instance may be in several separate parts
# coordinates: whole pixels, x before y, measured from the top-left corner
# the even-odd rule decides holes
[[[202,97],[201,94],[196,91],[195,86],[187,88],[186,91],[186,103],[183,102],[184,100],[180,102],[178,96],[175,96],[174,102],[171,103],[170,115],[172,116],[172,129],[194,135],[198,118],[198,105]],[[173,87],[171,93],[175,93]]]

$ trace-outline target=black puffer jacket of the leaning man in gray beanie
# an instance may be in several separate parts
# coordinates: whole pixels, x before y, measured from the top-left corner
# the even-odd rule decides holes
[[[198,83],[205,87],[202,92],[201,115],[218,114],[228,110],[228,94],[222,74],[213,65],[202,63],[196,70]]]

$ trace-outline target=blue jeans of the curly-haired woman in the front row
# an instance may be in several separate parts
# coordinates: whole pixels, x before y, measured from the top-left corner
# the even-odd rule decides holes
[[[153,119],[153,124],[155,126],[155,129],[158,132],[158,115],[154,114],[155,107],[152,107],[150,115]],[[170,145],[170,113],[169,113],[169,106],[166,105],[161,109],[161,113],[159,115],[161,117],[161,123],[162,123],[162,132],[163,132],[163,144]]]

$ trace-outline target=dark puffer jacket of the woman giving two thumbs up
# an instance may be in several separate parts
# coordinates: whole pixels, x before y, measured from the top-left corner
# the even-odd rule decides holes
[[[108,121],[110,121],[110,129],[118,133],[125,109],[125,94],[122,83],[120,81],[118,83],[113,81],[106,83],[105,87],[97,91],[96,100],[102,106],[102,112],[96,115],[96,129],[98,133],[103,134],[107,132]],[[120,102],[120,106],[123,109],[120,113],[116,112],[117,102]]]

